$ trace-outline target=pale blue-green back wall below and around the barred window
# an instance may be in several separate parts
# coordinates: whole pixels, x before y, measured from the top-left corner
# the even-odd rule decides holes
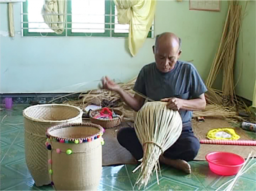
[[[96,88],[103,75],[127,81],[154,57],[147,39],[136,57],[127,51],[124,38],[21,37],[21,4],[14,4],[16,35],[6,36],[7,5],[0,4],[0,92],[52,93]],[[205,80],[227,14],[227,1],[221,11],[190,11],[189,1],[158,0],[155,34],[172,31],[182,39],[181,60],[193,63]],[[88,82],[85,86],[73,86]]]

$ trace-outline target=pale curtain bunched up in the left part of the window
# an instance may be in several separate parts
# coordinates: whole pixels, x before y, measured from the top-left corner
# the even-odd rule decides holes
[[[42,16],[44,22],[50,29],[55,31],[56,34],[63,33],[65,29],[66,21],[66,6],[67,0],[44,0],[44,6],[42,8]],[[55,15],[45,15],[55,14]],[[62,14],[62,15],[57,15]]]

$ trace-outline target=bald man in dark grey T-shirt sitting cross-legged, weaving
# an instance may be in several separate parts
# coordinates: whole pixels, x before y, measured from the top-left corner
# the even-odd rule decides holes
[[[155,62],[142,68],[134,85],[135,94],[132,97],[123,91],[108,77],[102,80],[103,88],[116,91],[134,111],[140,110],[145,99],[143,94],[155,101],[168,102],[170,109],[179,111],[183,130],[175,142],[160,157],[160,162],[191,173],[188,161],[198,154],[200,143],[192,131],[192,111],[205,108],[204,93],[207,91],[204,82],[191,63],[178,60],[181,54],[181,40],[173,33],[157,35],[153,52]],[[122,128],[117,134],[117,140],[136,160],[143,157],[143,148],[134,128]]]

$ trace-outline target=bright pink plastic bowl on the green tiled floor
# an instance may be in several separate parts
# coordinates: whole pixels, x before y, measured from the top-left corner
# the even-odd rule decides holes
[[[205,158],[211,171],[222,176],[236,175],[244,164],[243,157],[228,152],[212,152]]]

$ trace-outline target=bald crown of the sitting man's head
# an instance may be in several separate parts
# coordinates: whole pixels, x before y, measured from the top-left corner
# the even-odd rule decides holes
[[[157,48],[159,47],[159,44],[162,44],[162,43],[170,43],[170,45],[173,48],[178,47],[177,48],[178,51],[181,48],[181,39],[171,32],[164,32],[156,36],[155,50],[157,50]]]

